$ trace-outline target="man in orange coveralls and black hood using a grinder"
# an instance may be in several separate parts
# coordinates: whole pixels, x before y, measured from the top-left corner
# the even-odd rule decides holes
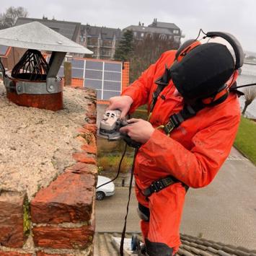
[[[141,105],[150,106],[157,87],[155,81],[169,71],[171,79],[157,97],[149,122],[133,118],[120,129],[142,144],[136,155],[134,177],[141,231],[146,255],[150,256],[177,252],[186,186],[204,187],[213,180],[229,155],[240,120],[237,94],[230,92],[226,100],[203,107],[169,135],[158,128],[169,122],[170,115],[180,112],[186,102],[209,97],[206,89],[209,84],[216,85],[217,90],[230,77],[231,83],[236,79],[234,59],[224,45],[198,45],[173,64],[178,58],[176,53],[176,50],[163,53],[122,96],[110,99],[109,109],[121,110],[123,117]],[[175,182],[145,195],[152,182],[169,176]]]

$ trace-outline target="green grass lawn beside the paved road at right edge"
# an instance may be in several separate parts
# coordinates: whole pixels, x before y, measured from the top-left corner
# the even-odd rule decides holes
[[[256,164],[256,123],[247,118],[241,118],[234,146]]]

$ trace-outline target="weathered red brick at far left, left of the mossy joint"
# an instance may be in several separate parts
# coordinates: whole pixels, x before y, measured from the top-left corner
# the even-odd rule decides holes
[[[0,192],[0,244],[5,247],[22,247],[25,242],[23,231],[23,204],[25,194]]]

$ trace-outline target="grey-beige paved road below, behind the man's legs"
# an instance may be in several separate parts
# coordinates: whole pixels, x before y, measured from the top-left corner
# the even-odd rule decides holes
[[[122,231],[128,189],[96,203],[97,231]],[[139,231],[136,199],[131,200],[128,231]],[[181,230],[216,242],[256,249],[256,167],[232,149],[208,187],[187,193]]]

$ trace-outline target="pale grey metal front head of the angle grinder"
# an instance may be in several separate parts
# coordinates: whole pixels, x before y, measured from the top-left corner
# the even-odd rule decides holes
[[[121,136],[117,125],[120,115],[120,110],[107,110],[100,122],[98,136],[107,138],[109,141],[116,141],[120,139]]]

